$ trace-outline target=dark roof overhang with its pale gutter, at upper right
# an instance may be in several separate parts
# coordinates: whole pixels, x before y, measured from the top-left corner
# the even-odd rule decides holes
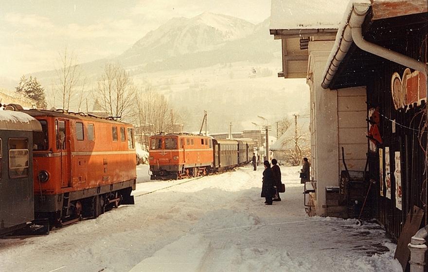
[[[372,0],[350,5],[322,75],[323,88],[366,85],[365,80],[388,61],[426,73],[427,65],[407,56],[403,44],[417,31],[427,31],[425,0]],[[392,6],[397,9],[391,10]]]

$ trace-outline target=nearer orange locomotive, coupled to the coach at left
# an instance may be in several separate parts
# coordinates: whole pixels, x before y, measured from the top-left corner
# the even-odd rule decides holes
[[[36,118],[34,190],[37,218],[57,225],[134,204],[136,157],[132,125],[87,114],[23,110]]]

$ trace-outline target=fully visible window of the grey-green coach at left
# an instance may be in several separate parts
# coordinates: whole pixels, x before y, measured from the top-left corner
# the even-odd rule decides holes
[[[28,140],[9,139],[9,176],[19,178],[28,176]]]

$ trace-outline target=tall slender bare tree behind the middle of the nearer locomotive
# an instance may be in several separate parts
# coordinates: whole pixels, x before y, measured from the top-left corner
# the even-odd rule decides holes
[[[76,92],[76,86],[80,80],[81,70],[77,64],[77,57],[73,52],[69,53],[67,48],[64,53],[59,53],[59,68],[56,69],[58,83],[56,89],[61,96],[62,108],[70,109],[72,95]]]

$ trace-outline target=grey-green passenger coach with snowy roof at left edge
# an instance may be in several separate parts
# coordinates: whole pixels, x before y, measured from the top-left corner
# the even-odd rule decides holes
[[[31,116],[0,110],[0,236],[34,220],[31,147],[41,130]]]

